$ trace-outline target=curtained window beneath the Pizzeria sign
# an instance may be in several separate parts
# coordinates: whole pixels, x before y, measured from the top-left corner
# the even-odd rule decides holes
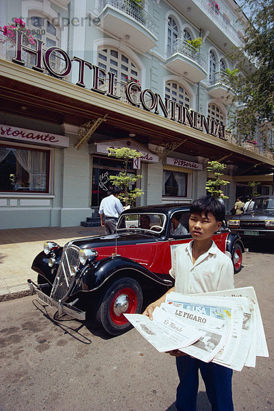
[[[186,197],[187,182],[187,173],[164,170],[162,195],[166,197]]]

